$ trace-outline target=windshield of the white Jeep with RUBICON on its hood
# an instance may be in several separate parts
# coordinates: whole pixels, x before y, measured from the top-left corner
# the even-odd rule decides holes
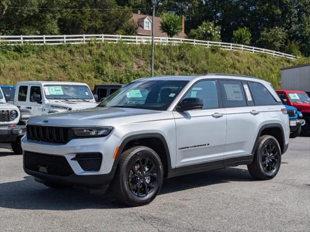
[[[45,85],[43,88],[47,99],[93,100],[92,92],[88,86]]]

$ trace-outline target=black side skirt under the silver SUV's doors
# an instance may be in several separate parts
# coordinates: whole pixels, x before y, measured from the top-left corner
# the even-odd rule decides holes
[[[220,161],[220,163],[219,163]],[[253,161],[253,155],[248,156],[240,156],[240,157],[233,157],[224,160],[217,160],[217,161],[210,161],[204,162],[199,164],[193,165],[186,165],[182,167],[174,168],[168,173],[167,178],[179,176],[179,175],[186,175],[186,174],[193,174],[193,173],[200,173],[210,170],[216,170],[221,168],[233,167],[238,165],[245,165],[250,164]]]

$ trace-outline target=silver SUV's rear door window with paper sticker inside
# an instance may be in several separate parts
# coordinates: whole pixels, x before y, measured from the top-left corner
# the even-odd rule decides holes
[[[247,106],[241,81],[220,81],[224,107]]]

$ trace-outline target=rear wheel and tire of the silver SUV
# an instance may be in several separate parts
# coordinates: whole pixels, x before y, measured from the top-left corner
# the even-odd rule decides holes
[[[248,172],[255,179],[270,180],[275,177],[281,165],[281,149],[277,139],[271,135],[259,138],[253,162],[248,164]]]

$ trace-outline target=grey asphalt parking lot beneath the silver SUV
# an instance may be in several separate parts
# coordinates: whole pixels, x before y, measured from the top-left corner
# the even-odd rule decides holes
[[[175,177],[143,207],[109,194],[53,190],[0,148],[0,231],[310,231],[310,138],[290,140],[278,175],[255,181],[246,166]]]

